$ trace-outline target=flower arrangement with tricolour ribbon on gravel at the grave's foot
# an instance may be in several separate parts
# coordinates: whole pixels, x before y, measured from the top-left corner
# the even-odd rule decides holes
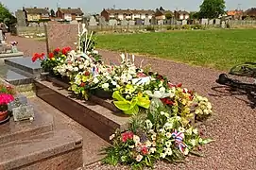
[[[156,161],[180,162],[188,154],[199,155],[200,145],[213,141],[202,139],[197,128],[183,126],[181,117],[157,98],[145,115],[134,117],[127,131],[117,130],[110,140],[103,162],[128,164],[133,169],[153,168]]]

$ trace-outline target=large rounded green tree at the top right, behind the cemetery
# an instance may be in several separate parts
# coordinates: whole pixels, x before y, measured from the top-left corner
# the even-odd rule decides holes
[[[219,15],[226,13],[224,0],[204,0],[200,6],[199,17],[200,18],[218,18]]]

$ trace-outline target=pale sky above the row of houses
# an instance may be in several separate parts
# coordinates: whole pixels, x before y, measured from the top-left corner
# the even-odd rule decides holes
[[[0,0],[12,12],[22,7],[38,8],[82,8],[85,13],[100,12],[103,8],[145,8],[163,7],[174,10],[198,10],[203,0]],[[59,5],[58,5],[59,4]],[[226,0],[227,9],[256,8],[256,0]]]

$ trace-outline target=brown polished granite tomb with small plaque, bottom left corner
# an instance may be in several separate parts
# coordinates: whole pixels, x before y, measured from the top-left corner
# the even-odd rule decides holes
[[[0,126],[0,169],[66,169],[82,166],[82,138],[70,129],[55,129],[53,116],[35,111],[34,121]]]

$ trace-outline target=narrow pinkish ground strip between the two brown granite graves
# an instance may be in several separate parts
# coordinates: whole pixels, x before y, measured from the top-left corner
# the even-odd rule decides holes
[[[54,119],[54,129],[72,129],[83,138],[83,162],[84,165],[101,161],[104,155],[100,154],[103,147],[108,146],[105,140],[94,134],[91,130],[78,124],[75,120],[57,110],[53,106],[47,104],[39,97],[28,99],[36,110],[40,113],[50,113]]]

